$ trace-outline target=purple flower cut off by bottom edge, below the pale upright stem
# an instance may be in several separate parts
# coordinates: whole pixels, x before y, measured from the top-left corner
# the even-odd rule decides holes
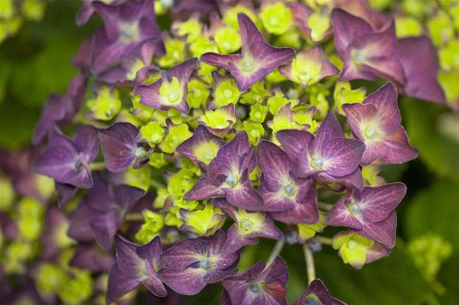
[[[303,292],[299,299],[294,301],[291,305],[346,305],[345,302],[340,301],[330,296],[329,290],[325,284],[318,278],[314,279]]]

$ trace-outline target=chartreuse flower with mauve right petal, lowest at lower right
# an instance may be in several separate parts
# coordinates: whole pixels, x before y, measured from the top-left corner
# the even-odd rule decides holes
[[[390,250],[382,244],[349,231],[335,235],[332,246],[338,250],[345,264],[356,269],[390,254]]]

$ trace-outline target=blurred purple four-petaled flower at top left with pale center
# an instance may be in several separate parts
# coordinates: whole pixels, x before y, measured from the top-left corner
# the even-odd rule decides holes
[[[97,1],[92,6],[104,20],[104,26],[96,30],[92,41],[91,66],[94,74],[118,63],[121,55],[131,53],[142,42],[161,38],[153,1],[141,0],[118,6]],[[160,43],[157,50],[164,54],[164,45]]]

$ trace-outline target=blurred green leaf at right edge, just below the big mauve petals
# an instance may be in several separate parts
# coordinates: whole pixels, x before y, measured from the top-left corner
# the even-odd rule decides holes
[[[459,181],[459,143],[439,130],[440,115],[449,110],[414,99],[403,99],[400,104],[410,143],[419,149],[421,161],[431,172]]]

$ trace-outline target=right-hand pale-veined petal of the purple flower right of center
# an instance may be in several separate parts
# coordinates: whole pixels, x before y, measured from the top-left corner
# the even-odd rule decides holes
[[[347,138],[331,138],[322,143],[320,158],[326,173],[343,177],[357,169],[362,161],[365,144]]]

